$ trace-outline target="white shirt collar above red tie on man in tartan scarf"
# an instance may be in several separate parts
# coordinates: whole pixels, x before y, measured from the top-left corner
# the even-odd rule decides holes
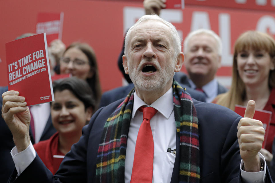
[[[160,98],[158,98],[153,104],[150,105],[150,107],[155,108],[160,112],[165,118],[169,118],[169,116],[172,114],[172,111],[174,109],[173,104],[173,94],[172,94],[172,87]],[[133,104],[133,112],[132,112],[132,118],[135,117],[135,113],[141,106],[147,106],[143,100],[141,100],[136,92],[134,93],[134,104]]]

